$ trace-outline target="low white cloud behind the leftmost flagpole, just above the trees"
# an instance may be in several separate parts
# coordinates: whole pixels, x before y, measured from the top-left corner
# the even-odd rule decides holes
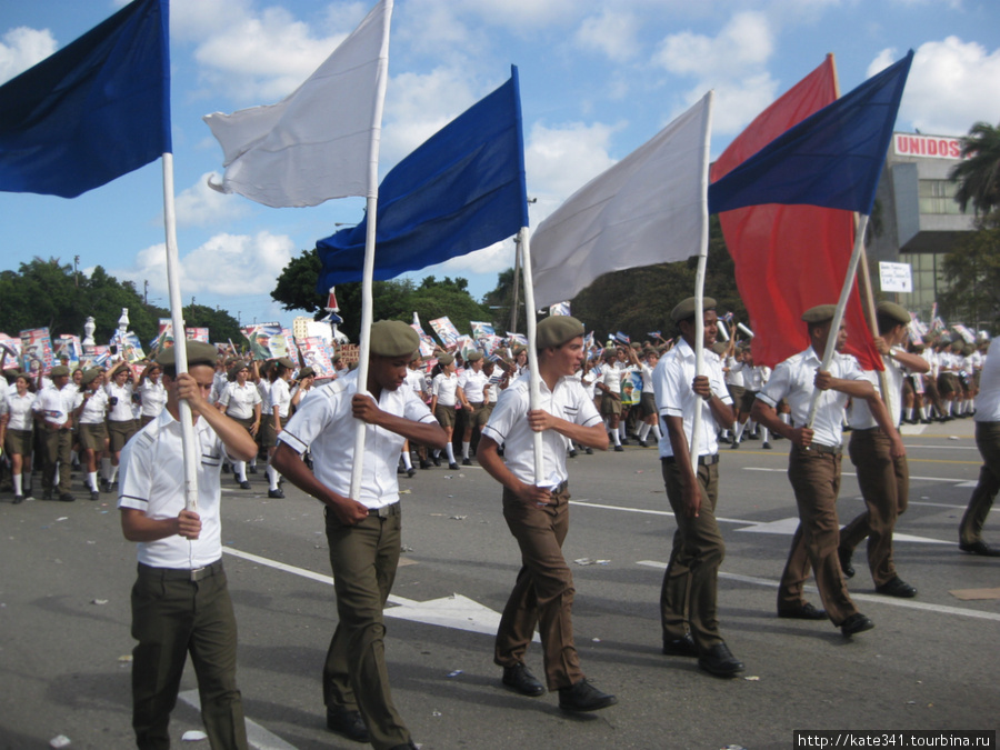
[[[179,282],[186,294],[222,297],[267,294],[288,266],[296,244],[284,234],[262,231],[249,234],[216,234],[180,260]],[[140,250],[131,268],[113,276],[141,286],[149,280],[158,293],[167,294],[167,252],[162,243]]]

